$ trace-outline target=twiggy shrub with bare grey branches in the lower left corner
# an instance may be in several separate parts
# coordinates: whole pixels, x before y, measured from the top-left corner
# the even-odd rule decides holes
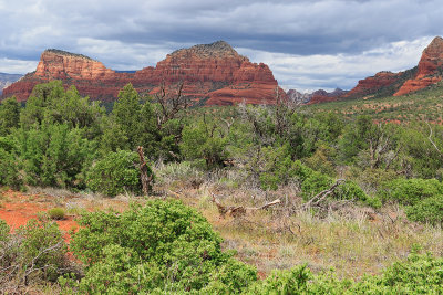
[[[66,251],[58,225],[48,219],[30,220],[16,233],[0,220],[0,289],[13,294],[42,280],[54,282],[68,272]]]

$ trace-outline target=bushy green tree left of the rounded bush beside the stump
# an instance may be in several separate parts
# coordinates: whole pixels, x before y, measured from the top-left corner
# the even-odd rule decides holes
[[[21,128],[16,137],[27,183],[84,188],[84,172],[94,157],[95,143],[84,138],[83,129],[44,124]]]

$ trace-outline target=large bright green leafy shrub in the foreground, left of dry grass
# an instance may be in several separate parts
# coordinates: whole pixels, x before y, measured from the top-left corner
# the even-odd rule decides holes
[[[257,280],[253,267],[222,252],[206,219],[178,201],[133,204],[121,214],[85,213],[79,222],[71,245],[86,264],[82,292],[239,292]]]

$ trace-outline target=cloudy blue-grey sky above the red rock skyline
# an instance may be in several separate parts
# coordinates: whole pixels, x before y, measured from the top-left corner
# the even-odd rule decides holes
[[[0,0],[0,72],[34,71],[45,49],[140,70],[224,40],[286,89],[350,89],[416,65],[442,15],[441,0]]]

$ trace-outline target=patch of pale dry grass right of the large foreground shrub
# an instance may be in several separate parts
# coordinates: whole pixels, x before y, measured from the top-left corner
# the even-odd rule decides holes
[[[228,172],[229,173],[229,172]],[[233,186],[219,173],[193,188],[185,179],[163,182],[158,190],[173,191],[188,206],[197,208],[224,238],[225,249],[237,251],[237,257],[256,265],[265,276],[275,268],[308,264],[313,271],[333,267],[340,277],[375,274],[420,246],[422,252],[443,255],[441,228],[406,220],[401,208],[385,207],[379,212],[354,204],[321,215],[293,211],[302,202],[297,186],[278,191]],[[235,182],[235,181],[234,181]],[[228,206],[257,207],[279,198],[282,203],[267,211],[240,218],[220,218],[212,194]]]

